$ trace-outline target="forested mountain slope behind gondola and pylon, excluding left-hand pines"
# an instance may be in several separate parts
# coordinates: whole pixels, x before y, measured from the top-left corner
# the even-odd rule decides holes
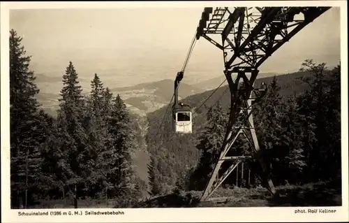
[[[340,91],[338,91],[337,88],[340,86],[338,85],[339,80],[336,79],[338,75],[340,75],[339,69],[336,68],[332,71],[327,71],[325,69],[325,64],[316,65],[311,61],[307,63],[309,66],[303,64],[306,68],[304,71],[278,75],[274,78],[260,78],[255,82],[255,86],[259,86],[261,82],[265,82],[269,85],[268,94],[265,99],[263,99],[264,102],[262,102],[260,106],[256,106],[254,114],[255,123],[257,127],[260,128],[257,130],[259,131],[258,138],[260,140],[260,145],[262,149],[266,151],[266,154],[269,154],[267,155],[267,157],[269,157],[267,161],[269,161],[271,166],[275,166],[275,168],[271,168],[272,172],[274,172],[274,181],[276,185],[282,185],[288,181],[297,183],[308,182],[307,180],[311,179],[308,178],[305,180],[306,176],[302,175],[302,170],[306,170],[308,175],[311,173],[315,174],[313,171],[315,171],[316,168],[320,168],[318,166],[319,164],[312,162],[315,162],[313,160],[315,159],[314,157],[317,157],[321,152],[319,151],[317,153],[309,149],[309,147],[314,148],[315,145],[318,144],[315,143],[315,139],[309,142],[304,141],[304,137],[308,136],[308,134],[304,132],[306,131],[304,128],[308,128],[306,126],[310,124],[309,127],[313,128],[312,130],[314,131],[308,137],[319,137],[323,140],[322,136],[324,132],[315,130],[322,129],[322,127],[319,127],[322,121],[315,121],[316,119],[327,120],[326,123],[334,129],[338,128],[340,125],[340,118],[336,115],[336,124],[329,122],[330,119],[334,118],[333,110],[338,109],[339,105]],[[318,101],[318,98],[316,98],[318,93],[316,92],[319,91],[319,86],[323,88],[320,90],[322,92],[321,94],[326,94],[326,96],[321,96],[323,98],[321,103],[315,102]],[[193,108],[193,134],[177,135],[172,133],[172,120],[170,118],[171,109],[169,109],[168,115],[165,117],[163,116],[167,106],[156,110],[154,113],[149,113],[147,116],[149,120],[147,142],[148,150],[151,154],[151,165],[149,165],[149,180],[152,188],[151,194],[169,194],[173,192],[174,189],[184,189],[186,191],[191,189],[200,190],[203,189],[202,186],[205,187],[207,181],[202,181],[201,188],[198,188],[195,184],[193,185],[193,181],[198,181],[198,178],[207,178],[209,173],[211,173],[209,170],[205,170],[205,173],[200,172],[198,166],[202,163],[202,152],[206,151],[213,155],[214,151],[217,152],[221,149],[221,143],[225,134],[225,124],[227,122],[226,118],[228,117],[227,113],[230,106],[228,86],[217,89],[205,104],[201,106],[213,91],[214,90],[188,96],[183,100],[184,103]],[[331,91],[336,91],[336,93],[329,93]],[[311,97],[313,99],[310,99]],[[304,100],[306,101],[304,102]],[[325,101],[328,100],[332,100],[332,105],[328,103],[325,104]],[[337,104],[334,105],[334,101],[337,101]],[[314,106],[312,111],[309,110],[311,106]],[[333,107],[321,108],[321,106]],[[270,109],[282,115],[280,115],[280,117],[275,117],[275,115],[273,116],[273,114],[270,113]],[[326,114],[322,113],[320,110],[326,110]],[[320,114],[322,117],[318,117],[318,112],[322,113]],[[306,113],[309,114],[306,115]],[[311,115],[313,115],[313,117],[311,117]],[[264,128],[264,130],[262,126],[258,125],[262,120],[265,120],[265,123],[268,123],[268,120],[270,120],[268,127]],[[161,129],[159,129],[162,121],[163,124]],[[306,125],[306,123],[308,123],[308,125]],[[279,125],[281,128],[278,129]],[[334,125],[336,125],[336,127],[334,127]],[[216,130],[213,131],[212,129]],[[337,139],[340,137],[338,133],[333,132],[333,134],[336,136],[330,136],[332,139],[333,137]],[[205,137],[207,139],[205,139]],[[296,139],[298,141],[295,141]],[[323,148],[323,145],[321,148],[323,150],[332,151],[331,156],[335,154],[334,156],[340,159],[340,144],[335,140],[328,143],[331,144],[329,145],[330,148]],[[276,148],[279,145],[282,145],[282,149],[277,150]],[[322,149],[318,148],[318,150]],[[273,157],[273,155],[270,154],[270,152],[274,150],[276,152],[279,151],[277,154],[279,157]],[[329,161],[327,155],[321,159],[323,159],[324,162]],[[285,167],[287,162],[291,162],[294,166],[291,165],[289,166],[290,168],[287,169]],[[338,169],[338,165],[340,164],[338,164],[337,161],[334,161],[334,163],[336,163],[337,166],[333,174],[337,176],[338,171],[340,171]],[[210,164],[204,166],[213,164],[214,161],[211,161]],[[306,166],[308,166],[308,168],[306,168]],[[292,177],[290,176],[290,178],[285,179],[280,177],[280,175],[285,175],[294,168],[297,169],[297,171]],[[198,171],[200,172],[199,174]],[[197,176],[195,177],[195,175]],[[318,175],[318,173],[316,172],[315,175]],[[315,175],[313,175],[314,178],[316,178]],[[328,174],[327,177],[329,177],[329,175],[331,174]],[[334,175],[332,175],[332,177],[334,177]],[[195,180],[195,178],[197,180]],[[326,177],[322,175],[322,177],[318,178]]]

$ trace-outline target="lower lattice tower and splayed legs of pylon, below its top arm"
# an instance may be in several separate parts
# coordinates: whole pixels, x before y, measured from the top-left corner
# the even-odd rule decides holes
[[[261,99],[265,89],[255,89],[253,87],[255,78],[258,75],[258,70],[251,71],[250,78],[246,75],[246,71],[237,72],[237,78],[232,80],[232,73],[227,72],[227,80],[230,87],[230,93],[232,97],[231,107],[230,107],[230,121],[228,123],[228,131],[225,135],[225,140],[223,143],[223,150],[218,158],[214,171],[211,174],[211,178],[205,188],[204,193],[200,201],[205,201],[214,191],[223,183],[223,181],[228,178],[230,173],[235,170],[237,165],[246,159],[258,159],[260,162],[263,175],[267,181],[267,187],[272,194],[276,193],[274,184],[267,174],[266,165],[262,157],[258,156],[260,151],[260,146],[258,143],[257,135],[255,134],[255,127],[253,124],[253,101],[257,102]],[[240,80],[243,80],[243,85],[239,84]],[[243,87],[242,87],[243,86]],[[237,141],[239,135],[244,136],[251,148],[251,152],[257,154],[255,156],[227,156],[228,152],[232,149],[234,143]],[[230,167],[224,171],[223,174],[219,174],[221,171],[222,164],[224,162],[231,162]]]

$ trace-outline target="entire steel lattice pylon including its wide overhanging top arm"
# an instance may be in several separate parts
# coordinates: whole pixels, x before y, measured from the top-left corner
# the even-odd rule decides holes
[[[330,7],[217,7],[205,8],[198,25],[196,39],[204,37],[223,51],[225,78],[228,80],[231,94],[230,117],[219,157],[211,178],[205,188],[201,201],[205,201],[214,190],[234,171],[237,164],[246,157],[227,157],[237,136],[243,134],[251,144],[251,148],[258,154],[260,147],[253,127],[253,116],[248,100],[242,100],[239,81],[242,79],[246,94],[251,96],[258,67],[265,62],[284,43],[290,41],[306,25],[329,10]],[[247,78],[246,73],[251,75]],[[232,80],[232,74],[237,78]],[[258,99],[258,94],[257,98]],[[240,115],[240,107],[245,105],[245,127],[236,126]],[[246,109],[248,108],[248,109]],[[246,124],[247,123],[247,124]],[[247,129],[247,130],[246,130]],[[248,137],[248,135],[250,137]],[[267,174],[267,168],[262,157],[255,157],[261,164],[267,181],[267,188],[272,194],[276,193],[272,180]],[[232,165],[221,177],[219,171],[225,161],[232,161]]]

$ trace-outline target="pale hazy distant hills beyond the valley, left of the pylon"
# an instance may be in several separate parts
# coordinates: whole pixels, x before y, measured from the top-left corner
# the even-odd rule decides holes
[[[52,78],[42,74],[37,75],[37,77],[36,82],[38,83],[38,87],[43,89],[38,94],[38,100],[47,113],[56,115],[56,110],[59,106],[59,91],[61,90],[61,86],[57,87],[57,82],[61,78]],[[55,83],[55,89],[50,89],[53,86],[53,82]],[[107,87],[107,83],[104,85]],[[149,112],[165,106],[170,101],[174,92],[174,80],[146,82],[130,87],[112,88],[110,90],[113,94],[120,94],[132,113],[144,116]],[[179,86],[179,98],[186,98],[187,96],[204,91],[204,89],[181,83]],[[84,90],[83,94],[89,93]]]

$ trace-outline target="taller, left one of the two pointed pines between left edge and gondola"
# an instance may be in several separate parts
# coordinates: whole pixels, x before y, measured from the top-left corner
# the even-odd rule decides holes
[[[66,185],[70,194],[73,194],[74,205],[77,208],[77,190],[84,188],[84,182],[89,175],[89,151],[86,149],[87,136],[82,127],[84,117],[84,99],[82,89],[77,80],[77,72],[72,62],[69,62],[66,73],[63,75],[64,87],[59,99],[59,130],[62,138],[62,151],[68,158],[68,180]]]

